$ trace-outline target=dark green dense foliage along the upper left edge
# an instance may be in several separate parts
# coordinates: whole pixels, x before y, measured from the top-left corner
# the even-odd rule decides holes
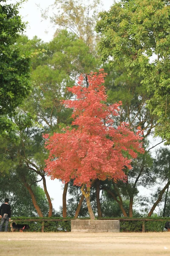
[[[0,133],[16,126],[8,119],[31,90],[29,52],[21,52],[16,42],[26,24],[19,15],[20,3],[0,0]]]

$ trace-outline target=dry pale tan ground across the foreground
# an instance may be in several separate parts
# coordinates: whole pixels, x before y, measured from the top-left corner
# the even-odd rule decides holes
[[[170,256],[170,232],[0,233],[0,256]]]

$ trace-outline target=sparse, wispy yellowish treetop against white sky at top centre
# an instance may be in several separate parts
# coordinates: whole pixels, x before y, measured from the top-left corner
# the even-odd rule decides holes
[[[89,51],[94,52],[94,46],[98,38],[94,27],[101,8],[101,1],[55,0],[51,8],[53,9],[53,15],[48,17],[47,9],[42,12],[42,17],[50,18],[51,22],[57,25],[59,29],[67,29],[74,33],[77,38],[85,42]],[[56,35],[57,33],[58,29]]]

